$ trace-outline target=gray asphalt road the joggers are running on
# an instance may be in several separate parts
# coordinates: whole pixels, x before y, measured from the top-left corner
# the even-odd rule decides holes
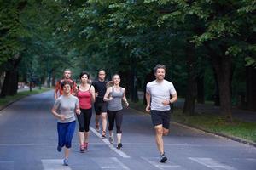
[[[150,116],[124,111],[123,149],[115,149],[90,128],[89,150],[79,152],[77,130],[69,166],[56,150],[56,120],[50,113],[53,92],[37,94],[0,111],[0,170],[172,169],[255,170],[256,148],[171,123],[165,138],[168,161],[159,162]],[[78,126],[77,126],[78,128]]]

